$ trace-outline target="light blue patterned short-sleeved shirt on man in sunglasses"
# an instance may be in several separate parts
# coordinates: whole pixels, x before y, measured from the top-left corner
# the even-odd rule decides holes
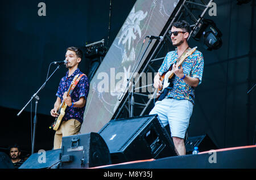
[[[158,72],[162,74],[169,70],[173,63],[176,63],[178,58],[177,49],[167,53],[162,66],[159,68]],[[190,55],[182,64],[183,72],[186,76],[192,78],[198,78],[199,84],[201,84],[203,70],[204,70],[204,57],[201,52],[196,50],[192,55]],[[191,87],[184,80],[174,75],[173,77],[174,86],[168,92],[165,98],[175,98],[176,100],[189,100],[195,104],[195,88]]]

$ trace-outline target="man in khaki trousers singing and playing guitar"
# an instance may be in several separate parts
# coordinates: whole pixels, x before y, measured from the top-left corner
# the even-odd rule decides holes
[[[89,80],[78,68],[81,59],[82,51],[79,48],[67,48],[65,60],[68,71],[60,80],[57,100],[51,110],[51,115],[59,122],[59,125],[52,125],[53,130],[56,130],[53,149],[61,148],[63,136],[79,134],[81,128],[89,93]]]

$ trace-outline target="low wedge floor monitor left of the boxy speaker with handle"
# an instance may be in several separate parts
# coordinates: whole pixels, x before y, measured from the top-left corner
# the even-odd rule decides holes
[[[60,163],[61,149],[39,151],[32,154],[23,162],[19,169],[46,169],[56,168]]]

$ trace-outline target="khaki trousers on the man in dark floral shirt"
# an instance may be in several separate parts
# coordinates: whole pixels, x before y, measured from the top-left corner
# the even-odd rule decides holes
[[[61,122],[59,129],[55,132],[53,149],[60,149],[62,137],[79,134],[81,123],[76,119]]]

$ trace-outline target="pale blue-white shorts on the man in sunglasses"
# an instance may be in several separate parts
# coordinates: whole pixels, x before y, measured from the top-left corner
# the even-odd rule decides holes
[[[156,101],[150,115],[158,114],[160,123],[164,127],[169,123],[172,137],[184,139],[192,111],[191,101],[164,98],[162,101]]]

